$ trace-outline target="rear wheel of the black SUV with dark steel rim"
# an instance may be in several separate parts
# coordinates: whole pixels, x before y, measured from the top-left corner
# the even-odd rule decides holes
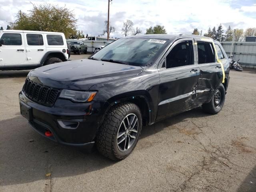
[[[217,114],[218,112],[220,112],[225,102],[225,97],[226,97],[225,94],[226,94],[225,88],[221,83],[216,88],[210,102],[202,105],[204,112],[210,113],[210,114]]]

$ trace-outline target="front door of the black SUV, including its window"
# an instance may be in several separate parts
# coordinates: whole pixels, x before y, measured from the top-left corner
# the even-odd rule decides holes
[[[194,58],[193,39],[175,42],[164,56],[159,69],[158,120],[193,106],[200,74]]]

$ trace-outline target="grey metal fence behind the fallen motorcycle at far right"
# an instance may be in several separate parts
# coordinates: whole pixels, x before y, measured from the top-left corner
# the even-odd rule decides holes
[[[221,42],[226,54],[230,56],[230,52],[234,55],[237,61],[240,59],[240,64],[243,67],[256,68],[256,42]],[[232,49],[232,50],[231,50]]]

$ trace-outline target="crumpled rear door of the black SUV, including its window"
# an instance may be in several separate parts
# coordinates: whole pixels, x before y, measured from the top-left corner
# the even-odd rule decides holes
[[[213,42],[198,39],[196,47],[200,67],[196,102],[205,103],[212,98],[215,89],[222,82],[222,69],[217,61]]]

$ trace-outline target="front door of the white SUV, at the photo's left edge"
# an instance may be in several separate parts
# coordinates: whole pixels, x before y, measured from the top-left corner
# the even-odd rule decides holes
[[[3,32],[0,37],[4,44],[0,47],[0,65],[15,66],[26,62],[24,36],[22,32]]]

